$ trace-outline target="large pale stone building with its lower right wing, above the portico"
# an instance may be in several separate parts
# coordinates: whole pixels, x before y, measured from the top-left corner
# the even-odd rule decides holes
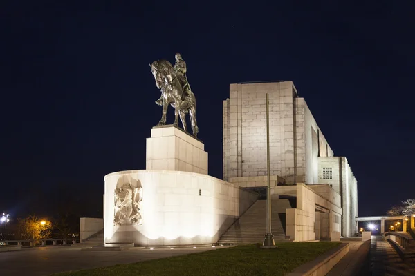
[[[270,114],[270,175],[281,184],[330,184],[341,196],[342,235],[355,234],[357,181],[345,157],[334,157],[292,81],[232,83],[223,101],[223,179],[266,186],[266,93]],[[276,180],[278,179],[278,181]]]

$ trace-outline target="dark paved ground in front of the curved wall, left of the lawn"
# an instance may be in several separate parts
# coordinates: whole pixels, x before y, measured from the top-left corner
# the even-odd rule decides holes
[[[224,246],[227,247],[227,246]],[[82,251],[77,246],[25,248],[0,252],[0,275],[40,276],[116,264],[129,264],[224,247],[157,248],[125,251]]]

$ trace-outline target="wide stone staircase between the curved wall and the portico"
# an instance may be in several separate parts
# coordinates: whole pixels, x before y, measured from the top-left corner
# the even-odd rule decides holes
[[[266,200],[258,200],[219,238],[218,244],[255,244],[266,234]],[[272,201],[271,232],[275,240],[284,240],[286,208],[293,208],[288,199]]]

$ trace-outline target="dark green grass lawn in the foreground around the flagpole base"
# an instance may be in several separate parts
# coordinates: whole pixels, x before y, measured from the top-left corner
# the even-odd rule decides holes
[[[279,248],[275,249],[260,249],[257,245],[236,246],[59,275],[284,275],[338,244],[285,242],[278,244]]]

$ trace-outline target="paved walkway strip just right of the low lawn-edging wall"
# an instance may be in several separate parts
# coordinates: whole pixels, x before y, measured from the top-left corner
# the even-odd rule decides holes
[[[362,266],[364,265],[368,251],[370,249],[370,242],[342,240],[342,242],[349,243],[349,252],[342,257],[326,276],[356,276]]]

